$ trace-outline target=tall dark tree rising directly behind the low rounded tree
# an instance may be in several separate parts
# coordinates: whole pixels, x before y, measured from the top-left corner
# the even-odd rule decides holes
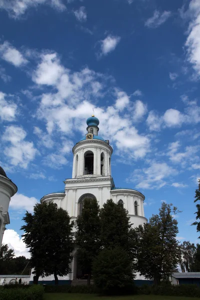
[[[100,209],[100,240],[103,248],[124,249],[130,259],[135,259],[135,231],[129,221],[127,210],[112,199],[107,200]]]

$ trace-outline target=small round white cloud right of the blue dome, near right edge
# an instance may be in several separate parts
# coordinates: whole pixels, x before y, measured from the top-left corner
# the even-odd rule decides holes
[[[180,126],[184,121],[184,115],[177,109],[167,109],[163,115],[167,127]]]

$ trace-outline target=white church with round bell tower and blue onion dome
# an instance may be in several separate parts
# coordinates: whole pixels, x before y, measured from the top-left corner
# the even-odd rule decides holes
[[[147,221],[144,217],[143,201],[144,195],[131,188],[116,187],[111,175],[111,155],[113,149],[108,139],[98,135],[99,120],[92,115],[86,120],[86,134],[72,148],[73,166],[72,178],[65,179],[64,190],[44,195],[40,201],[53,201],[57,207],[66,209],[72,220],[81,213],[85,198],[96,199],[102,207],[107,199],[112,199],[115,203],[120,203],[128,210],[130,222],[134,227]],[[81,278],[82,273],[77,265],[73,252],[71,262],[71,273],[67,276],[59,277],[60,283]],[[30,282],[33,280],[31,274]],[[39,282],[54,280],[54,276],[45,278],[39,277]]]

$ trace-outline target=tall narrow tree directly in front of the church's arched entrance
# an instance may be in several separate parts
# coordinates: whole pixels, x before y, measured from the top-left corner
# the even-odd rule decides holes
[[[92,263],[100,250],[99,205],[95,199],[86,198],[81,214],[76,219],[75,243],[77,258],[82,269],[88,274],[90,284]]]

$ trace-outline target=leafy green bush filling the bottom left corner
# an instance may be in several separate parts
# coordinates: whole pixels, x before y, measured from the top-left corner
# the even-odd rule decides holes
[[[0,300],[42,300],[43,292],[42,285],[33,285],[29,288],[2,286],[0,287]]]

